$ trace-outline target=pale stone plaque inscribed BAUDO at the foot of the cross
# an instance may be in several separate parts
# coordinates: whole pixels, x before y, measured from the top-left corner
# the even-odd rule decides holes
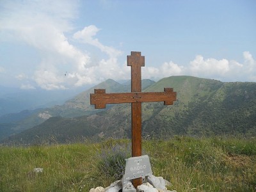
[[[152,175],[152,170],[147,155],[126,159],[124,180],[132,180],[148,175]]]

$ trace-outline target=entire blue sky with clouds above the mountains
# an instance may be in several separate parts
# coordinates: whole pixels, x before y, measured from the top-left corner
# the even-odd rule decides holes
[[[0,86],[65,90],[131,78],[256,82],[256,1],[0,0]]]

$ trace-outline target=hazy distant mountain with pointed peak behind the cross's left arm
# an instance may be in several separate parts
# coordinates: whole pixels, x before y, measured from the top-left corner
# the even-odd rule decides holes
[[[141,82],[142,88],[154,84],[154,81],[149,79],[143,79]],[[131,92],[131,83],[129,81],[125,84],[117,83],[112,79],[108,79],[97,86],[93,86],[89,90],[79,93],[76,97],[67,100],[61,106],[54,106],[52,108],[37,109],[28,113],[13,113],[5,115],[0,118],[0,140],[10,136],[12,134],[18,134],[19,132],[25,131],[35,127],[36,125],[42,124],[45,120],[54,117],[61,116],[64,118],[74,118],[84,115],[93,115],[104,111],[106,109],[94,109],[90,105],[90,93],[94,92],[94,89],[104,88],[107,93],[110,92]],[[109,105],[107,109],[111,108]]]

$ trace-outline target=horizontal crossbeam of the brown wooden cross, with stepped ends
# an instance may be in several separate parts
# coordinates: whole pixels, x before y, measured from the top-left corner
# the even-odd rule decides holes
[[[120,104],[132,102],[164,102],[164,105],[172,105],[176,100],[176,92],[173,88],[164,88],[164,92],[131,92],[131,93],[106,93],[104,89],[95,89],[90,94],[91,105],[95,109],[106,108],[106,104]]]

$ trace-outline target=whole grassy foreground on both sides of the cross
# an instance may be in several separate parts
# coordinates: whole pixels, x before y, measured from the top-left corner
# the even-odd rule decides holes
[[[129,140],[31,147],[0,147],[0,191],[89,191],[107,187],[115,175],[102,172],[102,154],[128,150]],[[144,140],[156,176],[179,191],[256,191],[256,139]],[[108,156],[109,157],[109,156]],[[108,158],[106,158],[108,159]],[[118,158],[117,158],[118,159]],[[113,158],[111,159],[111,161]],[[107,163],[106,163],[107,164]],[[101,165],[101,166],[99,166]],[[103,164],[104,166],[104,164]],[[42,173],[34,168],[44,168]],[[110,168],[109,165],[105,168]]]

